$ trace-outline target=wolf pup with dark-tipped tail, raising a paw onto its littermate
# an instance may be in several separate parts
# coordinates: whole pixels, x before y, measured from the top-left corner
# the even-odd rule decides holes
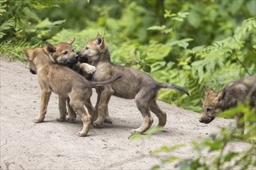
[[[98,100],[96,111],[98,110],[98,118],[93,123],[99,126],[103,123],[107,111],[109,99],[112,95],[123,97],[126,99],[135,99],[137,108],[144,117],[144,122],[140,128],[133,129],[134,133],[144,133],[153,123],[153,117],[150,110],[157,115],[158,125],[166,124],[166,114],[157,105],[157,92],[161,88],[170,88],[181,90],[189,95],[189,92],[183,87],[174,84],[158,83],[154,81],[146,73],[134,70],[132,68],[117,66],[110,61],[109,49],[102,36],[97,36],[87,42],[85,49],[81,49],[78,53],[80,58],[88,59],[88,63],[96,66],[97,71],[92,75],[93,80],[106,80],[112,76],[121,75],[122,78],[114,83],[98,88]]]

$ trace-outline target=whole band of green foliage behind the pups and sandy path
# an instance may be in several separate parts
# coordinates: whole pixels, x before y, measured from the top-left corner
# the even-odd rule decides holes
[[[21,58],[25,44],[57,44],[71,37],[80,50],[99,33],[113,63],[188,89],[190,97],[161,90],[158,99],[189,110],[202,110],[202,87],[220,90],[256,73],[254,0],[0,3],[2,55]]]

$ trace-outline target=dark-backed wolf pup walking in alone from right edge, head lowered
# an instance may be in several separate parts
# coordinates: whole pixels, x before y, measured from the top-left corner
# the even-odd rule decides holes
[[[238,102],[244,103],[249,100],[250,106],[254,107],[256,102],[256,76],[249,76],[243,80],[238,80],[227,84],[219,93],[204,88],[206,98],[203,100],[203,113],[200,122],[209,124],[213,119],[224,110],[236,107]],[[244,123],[240,123],[240,118],[244,114],[237,114],[237,128],[244,129]]]

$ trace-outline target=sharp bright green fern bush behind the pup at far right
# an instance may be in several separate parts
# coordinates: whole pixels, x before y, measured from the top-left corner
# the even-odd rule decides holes
[[[255,18],[244,20],[242,25],[234,31],[234,36],[213,42],[211,46],[195,46],[193,49],[187,49],[189,41],[192,41],[192,39],[167,42],[169,46],[177,45],[187,49],[179,52],[180,59],[177,59],[178,67],[171,68],[173,76],[178,77],[177,80],[175,80],[175,77],[171,77],[172,82],[180,84],[184,80],[186,84],[190,85],[189,90],[192,93],[192,98],[189,99],[191,103],[186,108],[197,111],[201,110],[201,107],[195,107],[195,105],[201,105],[202,101],[198,99],[198,94],[203,93],[203,86],[207,85],[213,89],[216,89],[216,87],[220,89],[220,87],[223,87],[231,80],[255,75],[256,59],[254,54],[256,49],[253,42],[256,36],[255,23]],[[165,26],[162,26],[162,28],[167,29]],[[164,29],[161,29],[161,32],[164,32]],[[246,43],[247,46],[244,46]],[[181,69],[183,73],[179,71]],[[168,70],[161,68],[160,73],[164,75],[163,71],[168,73]],[[175,73],[176,75],[174,75]],[[172,92],[164,91],[160,94],[159,98],[169,103],[168,96],[171,96],[171,94]],[[172,98],[171,100],[174,99]],[[179,97],[177,104],[184,103],[182,100],[186,99]]]

